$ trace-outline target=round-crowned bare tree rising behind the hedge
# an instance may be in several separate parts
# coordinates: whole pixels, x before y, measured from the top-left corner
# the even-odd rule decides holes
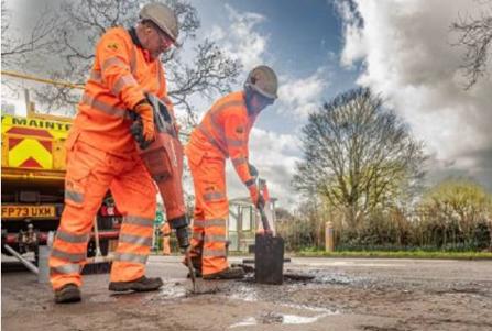
[[[311,113],[302,140],[293,185],[339,208],[353,230],[367,212],[412,195],[424,176],[422,143],[365,88]]]

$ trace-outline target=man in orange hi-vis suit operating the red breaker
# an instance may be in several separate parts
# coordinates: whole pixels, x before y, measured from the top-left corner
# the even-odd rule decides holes
[[[108,189],[123,214],[109,289],[156,290],[161,278],[145,277],[152,245],[156,189],[130,132],[130,112],[154,139],[153,109],[145,92],[170,109],[160,55],[176,43],[174,12],[146,4],[135,27],[108,30],[96,46],[90,78],[66,143],[65,209],[50,257],[55,302],[80,300],[80,269],[97,210]]]

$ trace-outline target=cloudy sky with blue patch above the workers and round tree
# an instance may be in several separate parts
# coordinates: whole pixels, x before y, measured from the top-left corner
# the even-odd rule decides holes
[[[239,59],[240,80],[260,64],[278,75],[280,98],[252,130],[250,158],[287,209],[300,199],[291,181],[308,113],[360,86],[380,93],[425,143],[429,183],[463,176],[492,191],[492,81],[488,76],[463,89],[464,49],[452,45],[449,27],[459,15],[490,9],[482,2],[190,1],[201,21],[198,41],[211,38]],[[200,117],[210,102],[196,102]],[[230,163],[227,177],[230,198],[248,195]]]

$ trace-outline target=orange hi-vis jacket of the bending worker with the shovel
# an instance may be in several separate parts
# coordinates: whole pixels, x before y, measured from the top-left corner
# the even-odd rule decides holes
[[[249,115],[243,91],[219,99],[194,130],[190,145],[194,151],[216,150],[223,158],[230,157],[245,186],[254,185],[248,166],[248,142],[256,117]]]

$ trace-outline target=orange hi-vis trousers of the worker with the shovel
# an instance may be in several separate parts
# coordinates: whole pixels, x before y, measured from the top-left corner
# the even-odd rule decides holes
[[[193,144],[187,145],[186,154],[195,187],[190,255],[193,260],[201,258],[203,275],[210,275],[228,267],[226,159],[219,152],[203,151]]]

